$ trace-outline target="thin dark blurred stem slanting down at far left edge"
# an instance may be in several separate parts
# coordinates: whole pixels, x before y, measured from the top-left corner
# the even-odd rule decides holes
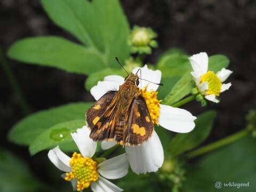
[[[9,65],[7,63],[7,60],[5,59],[4,53],[1,50],[1,48],[0,48],[0,63],[2,64],[2,68],[4,70],[4,73],[6,74],[9,82],[10,82],[10,85],[12,87],[13,92],[18,95],[18,98],[20,100],[21,108],[23,109],[23,113],[25,115],[29,114],[29,107],[27,105],[25,97],[22,94],[22,91],[21,91],[21,89],[20,89],[20,87],[17,83],[17,80],[14,77],[13,71],[9,67]]]

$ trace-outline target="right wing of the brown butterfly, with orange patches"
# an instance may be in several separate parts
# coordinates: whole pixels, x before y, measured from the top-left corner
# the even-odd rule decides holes
[[[147,104],[142,97],[135,98],[131,104],[125,123],[125,145],[137,146],[148,140],[154,131]]]

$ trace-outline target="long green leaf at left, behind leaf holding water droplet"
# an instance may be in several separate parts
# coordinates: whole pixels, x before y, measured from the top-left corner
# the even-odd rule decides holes
[[[49,127],[74,119],[84,119],[91,102],[69,103],[59,107],[42,110],[22,119],[12,127],[9,140],[19,145],[29,145]]]

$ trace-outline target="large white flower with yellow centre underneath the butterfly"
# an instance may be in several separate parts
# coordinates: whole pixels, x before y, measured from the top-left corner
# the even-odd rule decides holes
[[[135,74],[138,69],[139,67],[133,69],[132,73]],[[160,83],[162,73],[159,70],[148,69],[147,65],[145,65],[141,68],[141,75],[143,79]],[[141,81],[141,79],[139,81],[139,86],[143,87],[143,98],[146,100],[154,124],[159,124],[167,130],[178,133],[187,133],[194,129],[194,120],[196,117],[191,115],[187,110],[161,105],[161,101],[157,99],[156,92],[159,85],[153,83],[148,84],[147,81]],[[107,76],[102,82],[100,81],[96,86],[92,87],[91,94],[95,100],[98,100],[110,90],[119,90],[119,85],[123,83],[124,78],[121,76]],[[101,147],[103,150],[106,150],[114,145],[116,145],[114,141],[103,141]],[[137,147],[125,146],[125,150],[131,169],[137,174],[156,172],[164,161],[163,147],[155,131],[151,138],[142,145]]]

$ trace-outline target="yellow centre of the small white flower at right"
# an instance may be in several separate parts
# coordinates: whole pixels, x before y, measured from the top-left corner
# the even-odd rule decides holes
[[[209,89],[206,91],[206,94],[214,94],[215,96],[220,94],[222,83],[213,71],[207,71],[206,74],[201,76],[201,83],[203,82],[208,82]]]

